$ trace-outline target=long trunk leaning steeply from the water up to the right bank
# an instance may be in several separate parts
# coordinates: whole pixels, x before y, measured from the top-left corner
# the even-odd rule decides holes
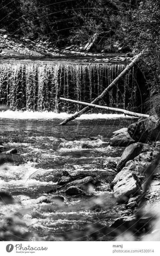
[[[118,83],[118,81],[125,75],[127,74],[131,68],[138,62],[140,56],[143,54],[143,52],[141,52],[140,54],[138,54],[134,60],[113,80],[113,82],[101,93],[101,95],[99,95],[97,98],[95,98],[95,100],[93,100],[91,103],[95,104],[98,103],[100,100],[103,99],[103,97],[106,95],[106,93],[114,86]],[[90,109],[89,106],[87,106],[86,108],[80,110],[79,112],[74,113],[74,115],[66,118],[62,123],[60,123],[59,125],[65,125],[66,123],[68,123],[71,120],[74,120],[75,118],[79,117],[80,115],[82,115],[83,113],[85,113],[86,111],[88,111]]]

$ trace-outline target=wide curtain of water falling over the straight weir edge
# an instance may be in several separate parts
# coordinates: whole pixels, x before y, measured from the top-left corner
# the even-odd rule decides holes
[[[3,62],[0,101],[13,110],[78,111],[78,104],[60,102],[59,96],[91,102],[125,67],[125,64]],[[136,93],[136,68],[133,68],[99,104],[133,109]]]

